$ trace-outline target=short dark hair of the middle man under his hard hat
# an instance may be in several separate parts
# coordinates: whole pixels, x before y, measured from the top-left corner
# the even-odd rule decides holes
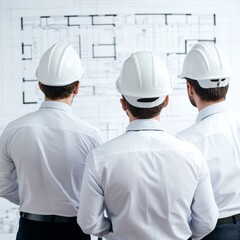
[[[156,107],[152,107],[152,108],[139,108],[139,107],[134,107],[133,105],[131,105],[125,98],[124,96],[123,100],[125,101],[126,105],[127,105],[127,109],[131,112],[131,114],[138,119],[150,119],[153,117],[156,117],[160,114],[160,112],[162,111],[164,105],[165,105],[165,101],[163,103],[161,103],[160,105],[156,106]],[[158,98],[143,98],[143,99],[139,99],[138,101],[140,102],[153,102],[154,100],[156,100]]]

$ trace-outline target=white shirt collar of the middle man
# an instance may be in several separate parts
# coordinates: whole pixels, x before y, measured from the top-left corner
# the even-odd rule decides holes
[[[158,120],[138,119],[129,123],[126,132],[129,131],[162,131],[162,128]]]

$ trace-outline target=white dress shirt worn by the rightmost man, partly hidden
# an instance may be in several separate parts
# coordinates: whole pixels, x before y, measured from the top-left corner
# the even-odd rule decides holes
[[[213,104],[199,112],[196,124],[177,136],[205,156],[219,218],[240,213],[240,116],[225,102]]]

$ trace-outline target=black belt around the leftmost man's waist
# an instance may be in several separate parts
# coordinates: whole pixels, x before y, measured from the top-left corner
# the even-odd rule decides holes
[[[57,215],[39,215],[33,213],[20,212],[20,216],[32,221],[51,222],[51,223],[71,223],[77,222],[77,217],[64,217]]]

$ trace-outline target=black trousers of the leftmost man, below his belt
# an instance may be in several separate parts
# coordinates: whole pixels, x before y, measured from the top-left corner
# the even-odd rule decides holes
[[[20,218],[17,240],[90,240],[77,222],[49,223]]]

